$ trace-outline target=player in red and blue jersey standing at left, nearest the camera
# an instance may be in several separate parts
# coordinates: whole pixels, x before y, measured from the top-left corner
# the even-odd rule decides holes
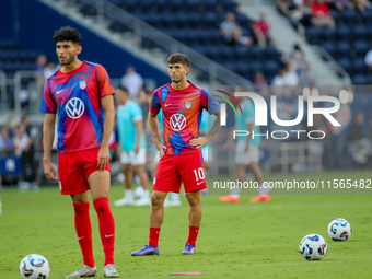
[[[106,70],[97,63],[81,61],[80,33],[70,26],[55,32],[57,56],[62,66],[45,84],[40,112],[44,118],[44,172],[57,182],[50,162],[58,113],[58,174],[62,195],[70,195],[74,225],[84,265],[66,278],[94,277],[92,226],[89,214],[91,189],[98,216],[100,234],[105,253],[104,276],[119,277],[114,265],[115,222],[108,204],[108,140],[114,126],[115,90]]]

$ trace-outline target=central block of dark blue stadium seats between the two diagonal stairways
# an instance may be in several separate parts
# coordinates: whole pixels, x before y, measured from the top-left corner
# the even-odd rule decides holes
[[[84,1],[75,2],[80,3],[80,12],[84,15],[96,14],[96,11]],[[232,0],[142,0],[140,4],[139,1],[132,0],[111,2],[251,81],[257,71],[261,71],[266,80],[271,81],[282,67],[280,51],[270,44],[267,47],[259,47],[255,42],[252,46],[245,47],[224,43],[220,34],[220,23],[225,19],[228,11],[235,13],[236,22],[242,27],[242,35],[254,37],[252,21],[245,14],[236,12],[236,3]],[[111,19],[109,27],[115,32],[126,32],[126,27],[115,19]],[[142,47],[156,46],[143,38]],[[165,50],[171,53],[170,49]],[[206,81],[208,75],[206,72],[201,73],[199,79]]]

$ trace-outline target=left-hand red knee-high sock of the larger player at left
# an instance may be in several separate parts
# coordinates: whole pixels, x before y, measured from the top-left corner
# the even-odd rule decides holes
[[[84,265],[94,267],[92,246],[92,225],[89,216],[89,202],[73,204],[74,228],[83,254]]]

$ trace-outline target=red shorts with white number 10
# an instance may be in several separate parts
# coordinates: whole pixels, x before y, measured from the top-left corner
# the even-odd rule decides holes
[[[152,189],[179,193],[181,183],[186,193],[207,188],[201,151],[160,159]]]

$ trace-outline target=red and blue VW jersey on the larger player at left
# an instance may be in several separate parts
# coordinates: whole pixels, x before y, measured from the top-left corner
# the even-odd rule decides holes
[[[101,65],[83,61],[63,73],[58,70],[45,83],[40,112],[58,113],[59,152],[75,152],[101,147],[104,111],[101,97],[115,94]]]

